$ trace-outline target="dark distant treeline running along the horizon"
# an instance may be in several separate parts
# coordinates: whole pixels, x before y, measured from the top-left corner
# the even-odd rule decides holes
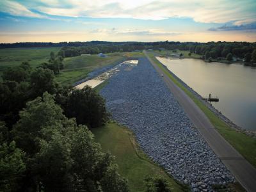
[[[58,55],[64,57],[81,54],[129,52],[143,49],[168,49],[190,51],[202,55],[204,60],[232,60],[233,56],[245,62],[256,62],[256,42],[60,42],[0,44],[0,48],[62,47]],[[254,52],[253,52],[254,51]]]

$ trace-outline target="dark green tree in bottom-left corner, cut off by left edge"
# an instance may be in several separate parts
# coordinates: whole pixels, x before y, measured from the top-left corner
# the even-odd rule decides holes
[[[9,145],[0,143],[0,191],[17,191],[20,188],[20,179],[26,170],[24,157],[15,141]]]

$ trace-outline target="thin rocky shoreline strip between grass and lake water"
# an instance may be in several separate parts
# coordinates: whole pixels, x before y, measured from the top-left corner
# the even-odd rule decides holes
[[[157,61],[159,61],[159,60],[157,60]],[[159,62],[161,63],[161,61],[159,61]],[[161,63],[161,65],[163,65],[163,63]],[[193,90],[193,88],[188,86],[188,84],[184,83],[184,81],[182,81],[178,76],[176,76],[165,65],[163,65],[163,67],[166,70],[168,70],[168,72],[170,72],[170,74],[172,74],[172,76],[175,77],[175,79],[177,79],[185,88],[187,88],[189,90],[189,92],[193,93],[193,95],[195,95],[195,97],[197,99],[199,99],[202,103],[204,103],[205,106],[207,106],[207,108],[209,108],[215,115],[217,115],[221,120],[223,120],[226,124],[228,124],[232,129],[236,130],[237,132],[243,132],[244,134],[246,134],[248,136],[256,138],[256,131],[248,131],[246,129],[243,129],[239,125],[236,125],[234,122],[232,122],[232,120],[227,118],[227,116],[223,115],[223,113],[221,113],[221,111],[219,111],[218,109],[214,108],[214,106],[212,106],[212,104],[210,104],[209,102],[205,101],[204,98],[200,94],[195,92],[195,90]]]

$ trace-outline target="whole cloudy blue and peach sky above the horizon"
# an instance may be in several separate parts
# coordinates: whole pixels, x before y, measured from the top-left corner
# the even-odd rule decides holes
[[[256,42],[256,0],[0,0],[0,43]]]

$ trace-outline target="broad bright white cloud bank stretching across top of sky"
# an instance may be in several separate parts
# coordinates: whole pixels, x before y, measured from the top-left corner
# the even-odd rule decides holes
[[[47,15],[161,20],[188,17],[195,22],[248,24],[256,20],[256,1],[246,0],[1,0],[0,11],[24,17]],[[253,11],[253,8],[254,11]],[[50,16],[49,16],[50,17]]]

